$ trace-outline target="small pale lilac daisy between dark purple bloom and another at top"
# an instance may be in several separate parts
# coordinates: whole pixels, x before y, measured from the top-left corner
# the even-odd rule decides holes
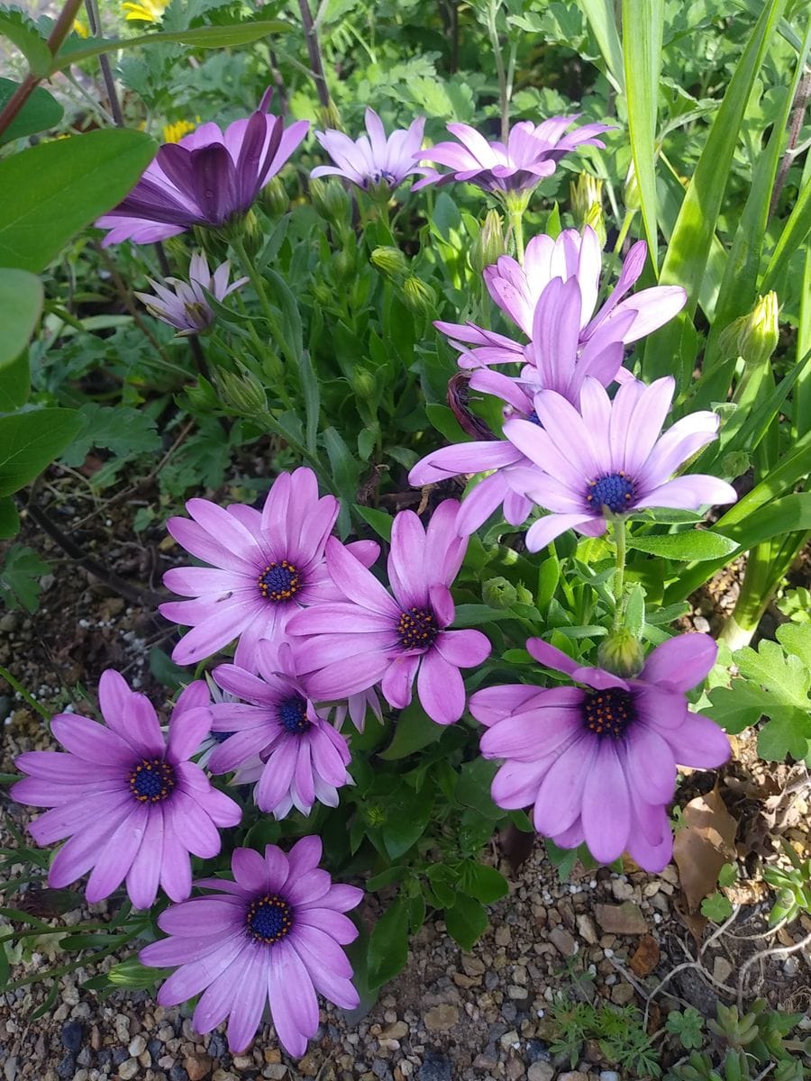
[[[394,190],[407,176],[427,173],[414,164],[423,142],[425,117],[417,117],[409,128],[391,132],[386,138],[383,121],[374,111],[365,111],[368,135],[350,139],[338,131],[316,132],[316,138],[334,165],[319,165],[310,176],[343,176],[364,191],[378,185]]]

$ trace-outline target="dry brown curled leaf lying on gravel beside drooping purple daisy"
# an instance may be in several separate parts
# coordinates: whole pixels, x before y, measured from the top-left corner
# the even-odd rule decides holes
[[[674,838],[673,858],[679,869],[689,912],[697,912],[713,893],[723,864],[735,858],[737,823],[714,788],[690,800],[682,813],[684,825]]]

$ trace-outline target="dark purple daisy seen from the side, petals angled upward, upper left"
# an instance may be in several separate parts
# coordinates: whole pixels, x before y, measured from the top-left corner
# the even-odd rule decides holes
[[[271,96],[265,91],[256,111],[225,132],[201,124],[180,143],[161,146],[129,196],[95,223],[110,230],[102,244],[146,244],[244,214],[309,128],[297,120],[285,129],[281,117],[268,116]]]

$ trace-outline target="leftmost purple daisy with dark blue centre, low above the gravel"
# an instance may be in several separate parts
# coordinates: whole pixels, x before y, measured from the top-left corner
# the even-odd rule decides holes
[[[218,827],[236,826],[239,806],[212,788],[189,758],[209,731],[199,686],[188,688],[169,722],[169,740],[151,703],[111,669],[102,675],[98,703],[106,724],[59,713],[51,722],[58,751],[16,759],[28,776],[11,789],[19,803],[52,808],[28,831],[37,844],[69,838],[48,875],[55,888],[88,871],[87,897],[108,897],[127,879],[135,908],[149,908],[158,885],[173,900],[191,892],[189,853],[220,852]]]

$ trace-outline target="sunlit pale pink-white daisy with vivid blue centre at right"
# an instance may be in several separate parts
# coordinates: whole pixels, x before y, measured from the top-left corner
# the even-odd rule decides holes
[[[534,522],[527,547],[540,551],[564,530],[586,536],[606,532],[607,516],[644,507],[734,503],[735,490],[705,473],[674,472],[718,435],[718,414],[691,413],[662,433],[676,382],[624,383],[613,401],[597,379],[586,378],[580,412],[562,395],[535,395],[540,426],[507,421],[504,435],[532,462],[526,494],[551,513]]]

